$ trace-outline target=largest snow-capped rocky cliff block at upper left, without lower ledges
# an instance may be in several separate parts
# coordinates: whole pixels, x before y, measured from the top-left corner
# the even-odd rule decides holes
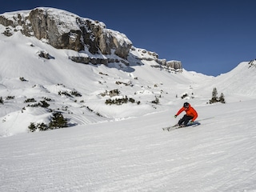
[[[53,8],[2,14],[0,24],[19,28],[26,36],[44,38],[58,49],[89,50],[91,54],[112,54],[114,50],[114,54],[126,59],[132,46],[125,34],[106,29],[102,22]]]

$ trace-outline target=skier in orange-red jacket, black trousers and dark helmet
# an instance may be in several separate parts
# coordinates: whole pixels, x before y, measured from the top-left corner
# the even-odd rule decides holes
[[[191,120],[191,123],[194,122],[196,118],[198,118],[198,113],[192,106],[190,106],[190,103],[184,102],[183,107],[178,110],[177,114],[174,115],[174,118],[177,118],[179,114],[182,113],[182,111],[185,111],[186,114],[184,114],[183,118],[181,118],[178,121],[178,126],[186,126],[187,123]],[[183,124],[182,124],[183,123]]]

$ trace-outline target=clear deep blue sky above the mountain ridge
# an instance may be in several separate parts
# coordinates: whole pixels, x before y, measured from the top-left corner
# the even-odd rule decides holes
[[[254,0],[8,0],[0,14],[38,6],[68,10],[126,34],[135,47],[214,75],[256,58]]]

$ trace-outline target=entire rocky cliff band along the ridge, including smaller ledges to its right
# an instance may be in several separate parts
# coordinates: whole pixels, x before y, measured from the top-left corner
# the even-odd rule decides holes
[[[6,26],[3,32],[6,36],[11,36],[19,30],[22,34],[34,36],[57,49],[90,53],[86,54],[87,56],[79,53],[77,56],[69,56],[74,62],[103,65],[122,62],[129,66],[127,58],[135,51],[132,57],[138,61],[155,61],[165,68],[182,69],[182,63],[179,61],[166,62],[166,59],[159,59],[158,54],[154,52],[135,48],[125,34],[106,29],[103,22],[81,18],[65,10],[39,7],[34,10],[0,14],[0,24]],[[95,56],[96,54],[98,56]],[[54,58],[45,52],[38,55],[47,59]]]

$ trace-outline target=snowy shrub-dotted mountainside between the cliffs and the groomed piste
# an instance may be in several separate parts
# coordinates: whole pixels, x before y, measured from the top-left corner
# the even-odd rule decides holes
[[[126,59],[129,65],[85,65],[69,58],[92,55],[89,50],[56,49],[45,39],[27,37],[21,30],[11,36],[6,36],[5,31],[6,27],[0,25],[1,135],[26,132],[31,122],[47,124],[54,111],[68,118],[69,126],[77,126],[166,110],[181,105],[183,95],[196,105],[206,105],[214,87],[226,96],[226,102],[254,98],[256,94],[254,62],[242,62],[214,78],[174,70],[159,64],[157,54],[132,47]],[[50,57],[41,57],[44,53]],[[108,99],[117,98],[133,102],[106,104]],[[40,107],[42,102],[49,106]]]

